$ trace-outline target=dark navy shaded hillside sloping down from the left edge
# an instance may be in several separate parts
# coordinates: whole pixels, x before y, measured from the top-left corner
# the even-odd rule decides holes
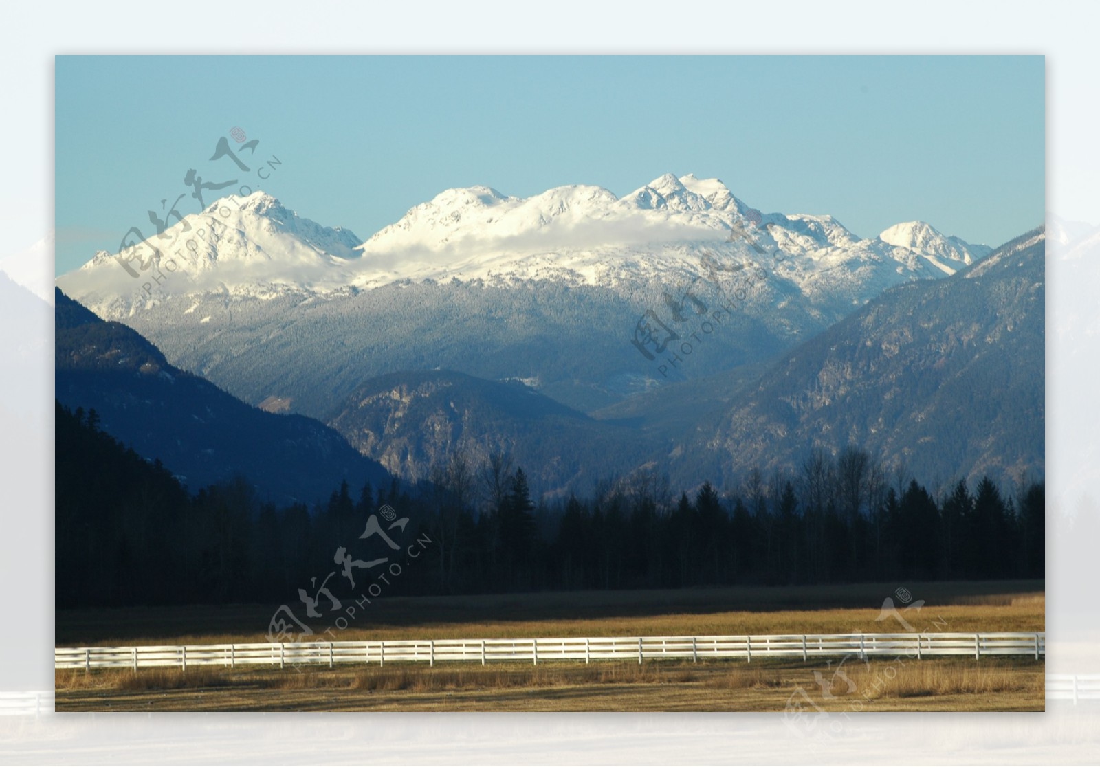
[[[95,409],[105,431],[139,455],[160,458],[193,491],[243,475],[263,498],[314,502],[344,479],[353,487],[388,482],[385,469],[328,426],[241,402],[61,290],[55,321],[58,401]]]

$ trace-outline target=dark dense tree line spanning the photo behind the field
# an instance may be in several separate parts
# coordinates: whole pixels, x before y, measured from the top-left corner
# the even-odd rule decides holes
[[[191,496],[94,411],[56,412],[58,607],[294,604],[326,583],[345,599],[384,558],[404,565],[389,591],[404,594],[1042,577],[1044,515],[1042,483],[936,497],[855,447],[725,494],[676,497],[649,469],[553,501],[506,453],[459,452],[415,486],[345,481],[326,503],[276,508],[244,478]],[[428,542],[415,567],[414,541]]]

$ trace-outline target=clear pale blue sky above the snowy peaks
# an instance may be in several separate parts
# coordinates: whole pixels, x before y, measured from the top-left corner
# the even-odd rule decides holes
[[[191,168],[362,238],[450,187],[694,173],[860,236],[920,219],[997,245],[1043,221],[1044,77],[1042,56],[58,56],[56,273],[147,235],[162,200],[196,212]],[[234,126],[246,173],[210,160]]]

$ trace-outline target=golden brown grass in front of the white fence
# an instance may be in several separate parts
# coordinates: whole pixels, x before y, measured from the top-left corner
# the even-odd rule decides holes
[[[814,671],[818,672],[815,678]],[[57,671],[58,711],[1041,711],[1044,664],[1009,658],[604,662],[305,670]],[[828,688],[826,697],[823,685]]]

